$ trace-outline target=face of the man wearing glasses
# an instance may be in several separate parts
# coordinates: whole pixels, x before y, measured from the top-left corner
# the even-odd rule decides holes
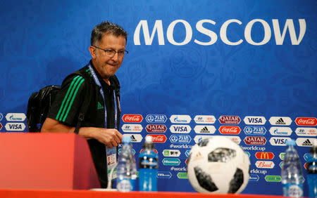
[[[107,50],[124,51],[125,43],[125,37],[116,37],[112,34],[104,34],[101,41],[95,44],[95,46]],[[106,53],[99,48],[90,46],[89,51],[92,54],[92,62],[101,77],[103,79],[108,79],[119,69],[123,62],[123,57],[120,57],[118,53],[113,55],[113,57],[108,57]]]

